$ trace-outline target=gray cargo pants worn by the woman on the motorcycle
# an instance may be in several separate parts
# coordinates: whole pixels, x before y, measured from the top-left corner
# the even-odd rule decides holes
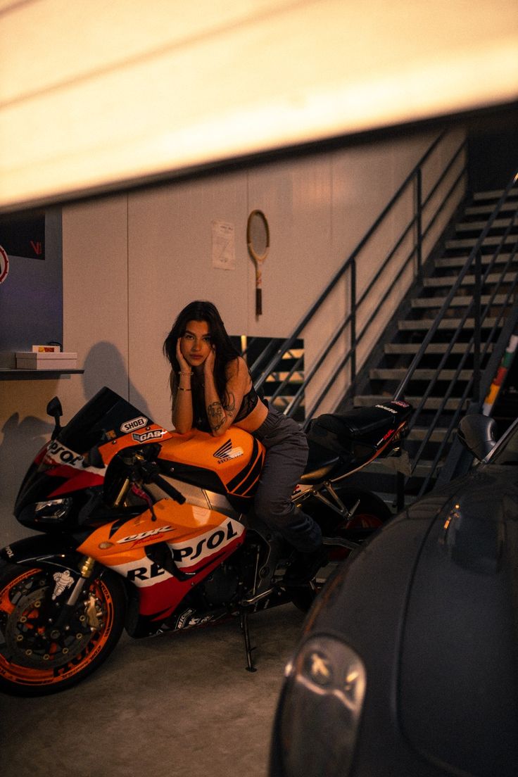
[[[321,528],[291,501],[308,461],[306,435],[298,423],[272,406],[252,434],[266,448],[266,461],[254,499],[256,516],[297,550],[317,550],[322,545]]]

